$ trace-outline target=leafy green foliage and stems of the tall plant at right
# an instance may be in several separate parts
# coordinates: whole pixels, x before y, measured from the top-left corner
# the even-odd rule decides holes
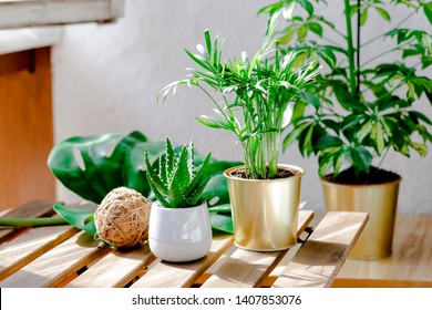
[[[424,156],[432,142],[431,120],[414,110],[420,99],[432,102],[431,78],[422,75],[431,69],[432,37],[421,29],[403,28],[408,20],[423,16],[430,29],[432,2],[341,2],[340,14],[333,16],[344,17],[344,29],[319,16],[327,6],[322,0],[282,0],[259,11],[272,20],[285,18],[286,27],[278,32],[281,53],[318,56],[325,66],[308,87],[312,108],[298,110],[284,141],[285,149],[297,141],[304,156],[317,155],[320,176],[350,167],[357,175],[368,173],[389,149]],[[410,12],[393,21],[390,9],[402,7]],[[373,14],[392,30],[364,38],[362,29]],[[366,52],[379,41],[385,43],[373,49],[374,54],[371,49]]]

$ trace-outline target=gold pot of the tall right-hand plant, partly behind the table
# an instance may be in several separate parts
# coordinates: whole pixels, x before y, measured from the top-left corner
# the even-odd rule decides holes
[[[372,260],[391,255],[400,182],[399,177],[382,184],[343,185],[321,179],[327,210],[369,213],[350,258]]]

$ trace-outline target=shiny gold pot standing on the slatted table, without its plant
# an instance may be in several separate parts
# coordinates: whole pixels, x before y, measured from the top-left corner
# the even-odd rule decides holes
[[[241,166],[225,172],[233,208],[234,241],[247,250],[274,251],[297,244],[297,217],[305,170],[279,165],[298,175],[279,179],[245,179],[233,176]]]

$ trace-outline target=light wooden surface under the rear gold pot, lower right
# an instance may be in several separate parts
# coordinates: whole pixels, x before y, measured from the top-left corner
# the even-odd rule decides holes
[[[392,256],[348,259],[333,286],[432,287],[432,216],[399,215]]]

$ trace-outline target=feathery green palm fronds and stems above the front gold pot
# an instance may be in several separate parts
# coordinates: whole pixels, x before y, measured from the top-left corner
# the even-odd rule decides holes
[[[189,69],[184,80],[165,86],[158,100],[165,101],[169,91],[187,84],[203,91],[214,104],[215,114],[197,120],[213,128],[235,134],[244,151],[244,164],[249,178],[272,178],[277,175],[279,140],[288,125],[294,104],[304,101],[304,87],[318,73],[315,61],[298,58],[298,53],[280,55],[274,52],[275,29],[271,23],[260,50],[253,58],[245,52],[239,59],[222,59],[224,40],[212,40],[204,32],[205,46],[198,53],[186,50],[197,68]],[[271,56],[270,56],[271,54]]]

